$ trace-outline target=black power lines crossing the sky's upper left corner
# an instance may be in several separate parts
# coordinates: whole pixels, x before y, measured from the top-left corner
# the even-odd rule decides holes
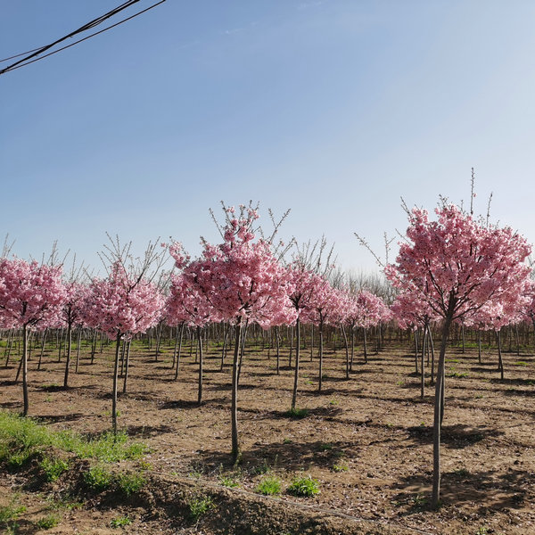
[[[29,65],[30,63],[35,63],[35,62],[38,62],[40,60],[44,60],[45,58],[47,58],[48,56],[53,55],[54,53],[62,52],[62,50],[70,48],[71,46],[78,45],[78,43],[81,43],[82,41],[86,41],[87,39],[89,39],[91,37],[95,37],[95,36],[97,36],[99,34],[102,34],[103,32],[105,32],[105,31],[107,31],[109,29],[112,29],[112,28],[115,28],[116,26],[119,26],[119,24],[123,24],[124,22],[130,21],[130,20],[136,18],[137,16],[143,14],[144,12],[150,11],[154,7],[156,7],[156,6],[160,5],[160,4],[163,4],[165,1],[166,0],[160,0],[160,2],[157,2],[156,4],[152,4],[149,7],[145,8],[144,10],[142,10],[140,12],[136,12],[133,15],[127,17],[126,19],[123,19],[122,21],[116,22],[115,24],[111,24],[111,26],[108,26],[108,27],[106,27],[104,29],[101,29],[99,31],[95,31],[94,33],[92,33],[92,34],[90,34],[90,35],[88,35],[86,37],[78,39],[78,41],[75,41],[74,43],[70,43],[70,45],[62,46],[61,48],[58,48],[57,50],[54,50],[53,52],[46,53],[45,55],[42,55],[40,57],[36,57],[36,56],[40,55],[41,53],[44,53],[46,50],[49,50],[53,46],[58,45],[59,43],[62,43],[62,41],[66,40],[66,39],[68,39],[70,37],[74,37],[74,36],[78,35],[79,33],[82,33],[84,31],[86,31],[87,29],[95,28],[95,26],[98,26],[103,21],[106,21],[107,19],[109,19],[113,15],[117,14],[118,12],[121,12],[124,9],[130,7],[131,5],[136,4],[137,2],[139,2],[139,0],[128,0],[128,2],[125,2],[124,4],[120,4],[118,7],[116,7],[113,10],[111,10],[111,12],[104,13],[100,17],[97,17],[96,19],[94,19],[93,21],[87,22],[86,24],[84,24],[84,26],[74,30],[73,32],[70,32],[70,34],[65,36],[65,37],[61,37],[60,39],[57,39],[56,41],[54,41],[50,45],[41,46],[40,48],[35,48],[33,50],[29,50],[26,53],[19,53],[19,54],[16,54],[14,56],[11,56],[9,58],[5,58],[4,60],[0,60],[0,62],[4,62],[4,61],[7,61],[7,60],[16,58],[16,57],[20,57],[21,55],[25,56],[24,58],[22,58],[18,62],[14,62],[11,65],[9,65],[8,67],[5,67],[3,70],[0,70],[0,75],[4,74],[5,72],[9,72],[10,70],[21,69],[21,67],[25,67],[26,65]],[[35,58],[35,59],[32,59],[32,58]]]

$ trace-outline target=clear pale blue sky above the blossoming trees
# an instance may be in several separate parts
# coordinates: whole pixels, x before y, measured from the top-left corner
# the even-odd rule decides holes
[[[119,4],[0,0],[0,59]],[[252,199],[374,270],[353,233],[383,253],[400,196],[468,199],[474,167],[476,210],[493,192],[535,242],[534,27],[532,0],[168,0],[0,76],[0,235],[90,265],[106,231],[196,254],[210,207]]]

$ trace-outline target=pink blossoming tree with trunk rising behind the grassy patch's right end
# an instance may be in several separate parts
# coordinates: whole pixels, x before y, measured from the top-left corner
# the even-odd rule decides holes
[[[153,246],[149,245],[140,267],[136,269],[132,266],[128,269],[125,257],[119,257],[112,264],[109,276],[105,279],[95,279],[89,287],[86,322],[116,342],[111,406],[113,432],[117,432],[117,381],[121,339],[135,333],[144,333],[161,318],[163,297],[158,287],[145,278],[148,269],[157,260]]]

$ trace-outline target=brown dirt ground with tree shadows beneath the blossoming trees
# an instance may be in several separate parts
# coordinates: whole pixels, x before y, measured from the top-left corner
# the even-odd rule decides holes
[[[531,354],[505,353],[506,379],[500,381],[494,350],[483,353],[482,364],[474,350],[465,354],[457,348],[449,350],[442,506],[433,511],[429,501],[434,391],[427,379],[420,399],[419,377],[408,347],[386,348],[371,355],[367,364],[359,353],[350,380],[345,379],[343,352],[327,351],[321,394],[317,393],[317,359],[310,362],[305,351],[298,406],[308,409],[308,414],[301,418],[286,415],[293,370],[285,366],[276,375],[273,351],[268,359],[267,351],[248,350],[238,401],[243,462],[237,470],[229,464],[230,362],[220,372],[218,354],[209,353],[203,403],[198,407],[198,366],[193,357],[185,352],[174,382],[169,369],[172,349],[164,350],[158,361],[153,352],[133,350],[128,393],[119,396],[119,426],[151,448],[145,461],[156,505],[165,502],[165,497],[158,498],[159,492],[163,496],[177,485],[183,490],[193,485],[193,493],[200,489],[219,493],[216,503],[226,506],[215,506],[184,527],[174,523],[165,504],[161,514],[149,514],[146,499],[134,501],[124,506],[134,521],[124,531],[535,534],[535,358]],[[287,365],[285,351],[282,362]],[[111,352],[109,347],[97,354],[93,366],[83,353],[79,373],[73,370],[67,390],[57,386],[62,384],[64,366],[56,362],[57,355],[45,357],[39,372],[35,360],[30,361],[30,415],[55,428],[88,433],[110,429]],[[12,382],[15,373],[11,365],[0,368],[0,407],[20,411],[21,384]],[[295,498],[283,490],[278,500],[259,498],[255,489],[266,473],[280,477],[284,489],[296,475],[310,475],[319,481],[320,493]],[[0,502],[13,496],[21,484],[18,477],[0,475]],[[224,483],[230,480],[238,486],[226,489]],[[28,507],[21,514],[22,530],[24,522],[42,514],[46,497],[26,490],[18,496]],[[62,523],[47,532],[118,532],[110,523],[123,506],[91,505],[63,515]],[[248,516],[253,510],[256,516]],[[262,531],[258,511],[288,518],[308,514],[325,522],[330,519],[332,525],[317,524],[316,531],[306,531],[303,523],[300,528],[285,529],[281,520],[280,530]],[[232,524],[235,527],[228,530],[235,531],[218,530],[218,524],[232,515],[240,516],[242,527]],[[276,522],[272,525],[278,526]]]

